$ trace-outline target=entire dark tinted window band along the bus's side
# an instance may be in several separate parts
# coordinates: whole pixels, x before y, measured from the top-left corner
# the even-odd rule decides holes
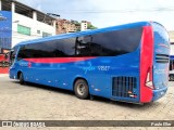
[[[133,52],[141,38],[141,27],[122,29],[85,37],[27,44],[21,48],[20,58],[115,56]]]

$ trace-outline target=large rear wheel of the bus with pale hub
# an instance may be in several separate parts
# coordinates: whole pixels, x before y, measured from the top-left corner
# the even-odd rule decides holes
[[[74,84],[74,92],[77,98],[86,100],[89,95],[89,87],[87,82],[83,79],[76,80]]]

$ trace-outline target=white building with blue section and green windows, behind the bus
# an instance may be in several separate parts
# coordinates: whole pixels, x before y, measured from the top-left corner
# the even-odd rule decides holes
[[[16,0],[0,0],[0,48],[55,35],[55,18]]]

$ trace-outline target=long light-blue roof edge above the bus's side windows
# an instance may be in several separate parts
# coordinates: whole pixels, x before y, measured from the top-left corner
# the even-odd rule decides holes
[[[94,34],[97,34],[97,32],[107,32],[107,31],[111,31],[111,30],[120,30],[120,29],[132,28],[132,27],[141,27],[141,26],[148,26],[148,25],[151,25],[151,22],[137,22],[137,23],[129,23],[129,24],[111,26],[111,27],[94,29],[94,30],[85,30],[85,31],[78,31],[78,32],[72,32],[72,34],[62,34],[62,35],[55,35],[55,36],[50,36],[50,37],[46,37],[46,38],[39,38],[39,39],[23,41],[23,42],[17,43],[15,47],[30,44],[30,43],[45,42],[45,41],[51,41],[51,40],[58,40],[58,39],[80,37],[80,36],[86,36],[86,35],[94,35]]]

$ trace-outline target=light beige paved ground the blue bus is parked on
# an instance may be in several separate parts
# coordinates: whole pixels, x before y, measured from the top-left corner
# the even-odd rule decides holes
[[[0,120],[174,120],[174,82],[169,82],[161,100],[136,105],[101,98],[79,100],[70,91],[21,86],[0,75]]]

